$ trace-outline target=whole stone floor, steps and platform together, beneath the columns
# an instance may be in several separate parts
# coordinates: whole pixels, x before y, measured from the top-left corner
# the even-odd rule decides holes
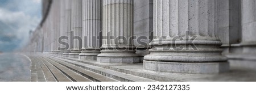
[[[256,81],[255,71],[232,66],[229,72],[221,74],[163,73],[144,70],[143,64],[109,64],[44,53],[27,56],[32,61],[33,82]]]

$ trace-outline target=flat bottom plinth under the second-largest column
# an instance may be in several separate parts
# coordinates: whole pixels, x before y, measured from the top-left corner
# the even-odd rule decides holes
[[[135,64],[139,63],[139,57],[97,57],[97,62]]]

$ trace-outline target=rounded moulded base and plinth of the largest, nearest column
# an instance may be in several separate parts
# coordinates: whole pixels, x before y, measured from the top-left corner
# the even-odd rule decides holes
[[[161,45],[153,42],[151,53],[144,56],[143,67],[146,70],[172,73],[224,73],[229,71],[229,63],[221,55],[220,45],[220,41],[204,40],[195,40],[193,43],[162,41]]]

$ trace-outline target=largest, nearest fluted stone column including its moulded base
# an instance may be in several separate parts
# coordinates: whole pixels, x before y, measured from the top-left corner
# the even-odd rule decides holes
[[[175,73],[229,70],[217,34],[217,0],[154,0],[154,40],[144,69]]]

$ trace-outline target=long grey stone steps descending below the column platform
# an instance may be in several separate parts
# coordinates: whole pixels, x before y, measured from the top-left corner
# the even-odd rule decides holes
[[[56,58],[46,54],[28,55],[32,82],[154,82],[100,66]]]

